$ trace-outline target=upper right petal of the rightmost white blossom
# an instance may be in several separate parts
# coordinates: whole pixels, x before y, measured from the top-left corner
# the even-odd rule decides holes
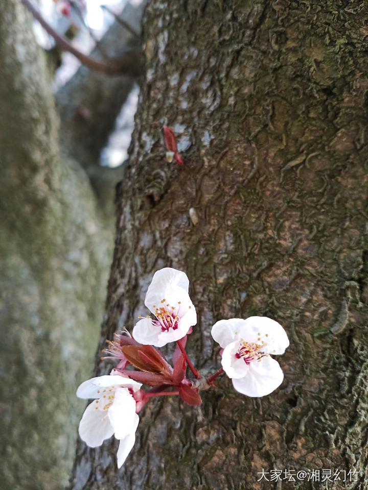
[[[240,336],[246,342],[259,344],[259,339],[265,342],[262,351],[266,354],[284,354],[289,347],[288,336],[283,327],[267,316],[249,316],[243,320]]]

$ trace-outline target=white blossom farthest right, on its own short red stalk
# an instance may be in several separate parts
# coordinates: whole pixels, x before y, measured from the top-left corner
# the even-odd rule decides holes
[[[269,395],[284,374],[271,354],[283,354],[289,346],[283,327],[266,316],[220,320],[211,334],[223,348],[221,364],[234,388],[249,397]]]

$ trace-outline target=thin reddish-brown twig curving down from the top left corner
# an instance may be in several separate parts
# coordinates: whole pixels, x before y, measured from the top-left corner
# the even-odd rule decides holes
[[[106,74],[113,75],[117,73],[121,73],[124,71],[126,67],[126,60],[123,62],[119,62],[116,60],[111,60],[106,63],[102,63],[100,61],[94,60],[89,56],[78,51],[64,36],[58,34],[54,28],[50,26],[50,24],[45,21],[42,15],[38,12],[38,10],[33,7],[29,0],[21,0],[22,4],[32,13],[33,17],[38,20],[43,29],[47,31],[56,41],[56,43],[65,51],[72,53],[83,65],[88,68],[96,71],[102,71]],[[131,72],[137,71],[130,70]]]

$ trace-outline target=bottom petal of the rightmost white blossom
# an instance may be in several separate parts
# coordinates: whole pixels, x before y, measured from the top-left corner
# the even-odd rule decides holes
[[[275,390],[284,379],[280,364],[265,356],[251,361],[243,378],[233,379],[234,388],[248,397],[264,397]]]

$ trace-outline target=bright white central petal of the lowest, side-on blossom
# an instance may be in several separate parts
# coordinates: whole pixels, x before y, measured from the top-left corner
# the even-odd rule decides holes
[[[116,389],[114,401],[108,409],[108,418],[117,439],[124,439],[131,432],[135,421],[135,400],[128,388]]]

